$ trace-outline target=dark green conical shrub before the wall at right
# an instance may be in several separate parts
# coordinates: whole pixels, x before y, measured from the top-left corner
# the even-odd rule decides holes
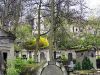
[[[91,63],[88,57],[85,57],[82,61],[82,69],[83,70],[90,70],[93,68],[93,63]]]

